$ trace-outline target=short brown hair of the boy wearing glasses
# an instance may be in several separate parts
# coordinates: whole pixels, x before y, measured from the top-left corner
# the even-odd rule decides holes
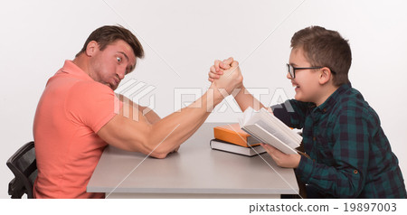
[[[336,86],[349,83],[347,74],[352,64],[352,52],[341,34],[320,26],[310,26],[294,33],[291,48],[302,48],[311,66],[329,68]]]

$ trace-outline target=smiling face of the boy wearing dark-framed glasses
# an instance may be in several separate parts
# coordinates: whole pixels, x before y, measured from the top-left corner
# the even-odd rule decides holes
[[[289,64],[294,68],[312,67],[305,58],[302,48],[291,50],[289,54]],[[293,87],[295,87],[295,98],[297,100],[317,103],[318,98],[320,98],[319,94],[321,93],[318,80],[319,75],[320,73],[317,72],[317,70],[295,70],[295,79],[292,79],[289,73],[287,74],[287,78],[291,80]]]

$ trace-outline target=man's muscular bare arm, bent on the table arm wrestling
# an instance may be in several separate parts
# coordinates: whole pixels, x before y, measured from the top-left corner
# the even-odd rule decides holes
[[[203,97],[187,108],[164,117],[154,124],[148,123],[147,117],[142,116],[139,110],[130,111],[131,114],[128,114],[125,110],[132,106],[129,105],[130,103],[128,105],[124,103],[123,111],[103,126],[98,135],[109,145],[165,158],[168,153],[192,136],[204,123],[214,106],[222,101],[223,97],[219,89],[226,89],[231,93],[232,89],[241,86],[241,79],[241,73],[234,72],[228,77],[214,81]],[[134,120],[134,117],[138,120]]]

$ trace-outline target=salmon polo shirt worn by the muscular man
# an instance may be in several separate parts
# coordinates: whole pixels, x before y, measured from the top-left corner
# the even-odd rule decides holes
[[[35,113],[35,198],[104,198],[86,186],[107,145],[97,132],[121,105],[112,89],[65,61],[48,80]]]

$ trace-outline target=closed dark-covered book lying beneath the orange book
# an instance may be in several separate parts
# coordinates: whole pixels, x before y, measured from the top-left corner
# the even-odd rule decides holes
[[[234,145],[231,143],[224,142],[222,140],[212,139],[210,142],[212,149],[232,153],[232,154],[241,154],[245,156],[255,156],[258,154],[263,154],[266,150],[260,145],[252,147],[243,147],[241,145]]]

